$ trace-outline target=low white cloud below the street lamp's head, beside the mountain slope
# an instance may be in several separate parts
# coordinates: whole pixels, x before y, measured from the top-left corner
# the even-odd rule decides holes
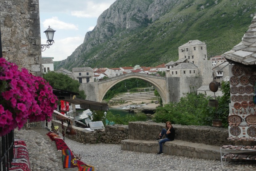
[[[42,52],[44,57],[53,57],[53,61],[62,61],[70,56],[84,41],[84,37],[68,37],[55,42],[50,48]],[[46,42],[46,39],[42,39]]]

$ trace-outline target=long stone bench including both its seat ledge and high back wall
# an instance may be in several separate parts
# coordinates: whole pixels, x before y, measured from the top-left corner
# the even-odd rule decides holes
[[[122,150],[158,153],[158,141],[154,141],[165,124],[155,122],[129,122],[129,139],[121,141]],[[223,145],[250,145],[249,141],[230,141],[228,129],[211,126],[173,125],[175,140],[163,144],[163,153],[210,160],[221,160]]]

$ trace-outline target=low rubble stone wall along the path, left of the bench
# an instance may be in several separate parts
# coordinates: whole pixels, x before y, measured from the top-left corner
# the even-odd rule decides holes
[[[62,134],[61,122],[52,120],[52,123],[54,126],[59,126],[60,134]],[[68,124],[64,123],[64,131],[66,131],[67,126]],[[76,135],[69,135],[65,132],[65,137],[84,144],[121,144],[122,140],[128,139],[128,125],[107,125],[105,129],[96,131],[89,131],[76,126],[72,127],[76,130]]]

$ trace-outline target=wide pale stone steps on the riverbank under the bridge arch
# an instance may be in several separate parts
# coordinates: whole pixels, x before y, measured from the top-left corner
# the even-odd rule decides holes
[[[141,93],[124,93],[112,98],[112,101],[157,100],[154,91]]]

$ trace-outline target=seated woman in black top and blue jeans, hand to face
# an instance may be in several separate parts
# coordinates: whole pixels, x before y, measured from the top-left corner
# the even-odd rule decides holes
[[[167,121],[165,124],[165,128],[162,129],[162,132],[159,134],[159,137],[156,139],[156,141],[159,141],[159,147],[160,150],[157,153],[157,155],[163,154],[163,143],[167,141],[173,141],[175,137],[175,129],[171,125],[170,121]],[[166,138],[162,139],[163,135],[165,135]]]

